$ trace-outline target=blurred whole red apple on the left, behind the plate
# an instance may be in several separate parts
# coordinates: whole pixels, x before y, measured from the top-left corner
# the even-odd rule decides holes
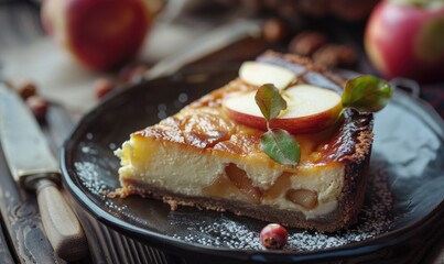
[[[118,66],[141,47],[154,0],[44,0],[45,31],[88,68]]]

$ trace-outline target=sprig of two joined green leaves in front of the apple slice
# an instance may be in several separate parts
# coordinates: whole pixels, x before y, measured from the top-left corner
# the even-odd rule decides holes
[[[259,87],[256,103],[267,121],[268,131],[260,139],[260,148],[271,160],[283,165],[296,165],[301,157],[300,145],[285,130],[270,129],[270,121],[286,109],[286,101],[279,89],[271,84]]]

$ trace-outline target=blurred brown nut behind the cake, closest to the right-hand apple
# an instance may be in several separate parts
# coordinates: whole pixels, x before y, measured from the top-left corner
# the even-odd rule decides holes
[[[313,54],[313,61],[326,67],[350,66],[356,63],[357,54],[347,45],[327,45]]]

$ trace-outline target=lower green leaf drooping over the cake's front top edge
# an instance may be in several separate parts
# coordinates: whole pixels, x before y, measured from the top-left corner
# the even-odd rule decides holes
[[[271,160],[282,165],[296,165],[301,157],[299,143],[285,130],[274,129],[262,134],[260,148]]]

